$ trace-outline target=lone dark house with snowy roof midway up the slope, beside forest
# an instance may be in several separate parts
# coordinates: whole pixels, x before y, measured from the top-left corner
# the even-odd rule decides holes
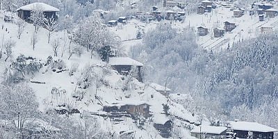
[[[133,60],[129,57],[113,57],[109,58],[109,64],[113,68],[113,70],[117,70],[119,74],[122,75],[128,75],[131,71],[132,66],[136,66],[138,70],[138,75],[136,76],[136,79],[138,81],[142,82],[142,76],[141,76],[141,69],[143,64]]]

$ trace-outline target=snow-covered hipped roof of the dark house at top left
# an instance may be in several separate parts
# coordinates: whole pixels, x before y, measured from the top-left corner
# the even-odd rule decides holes
[[[58,8],[49,6],[46,3],[38,3],[38,2],[31,3],[26,6],[22,6],[22,7],[18,8],[17,10],[30,10],[31,11],[31,10],[34,10],[34,8],[37,6],[42,6],[42,10],[44,12],[59,12],[60,11]]]

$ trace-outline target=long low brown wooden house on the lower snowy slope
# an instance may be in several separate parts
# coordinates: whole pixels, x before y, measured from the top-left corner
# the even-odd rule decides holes
[[[140,113],[143,117],[150,117],[149,104],[145,101],[138,100],[126,100],[126,101],[115,101],[112,104],[107,104],[104,106],[103,111],[112,112],[127,112],[132,117],[135,117],[136,113]]]

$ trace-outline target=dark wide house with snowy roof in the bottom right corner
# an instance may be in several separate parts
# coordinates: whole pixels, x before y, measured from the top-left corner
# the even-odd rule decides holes
[[[274,132],[278,131],[277,129],[257,122],[230,121],[229,124],[229,128],[236,133],[237,138],[247,138],[248,132],[252,132],[253,138],[272,139]]]

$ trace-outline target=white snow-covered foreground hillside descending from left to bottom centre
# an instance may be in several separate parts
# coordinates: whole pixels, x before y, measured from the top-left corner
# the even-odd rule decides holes
[[[77,108],[81,113],[83,113],[83,111],[101,113],[103,106],[112,104],[115,101],[127,101],[129,103],[134,103],[134,101],[145,101],[150,105],[150,112],[153,116],[147,120],[145,126],[143,126],[144,129],[138,129],[138,126],[134,123],[134,120],[132,120],[131,117],[127,117],[126,120],[122,122],[115,122],[113,120],[99,117],[101,128],[105,131],[113,131],[117,134],[120,134],[120,132],[123,131],[136,131],[136,138],[162,138],[154,128],[153,124],[164,124],[167,120],[173,120],[176,127],[179,126],[179,131],[182,131],[183,137],[191,138],[188,129],[194,126],[192,123],[197,121],[196,116],[194,117],[183,108],[183,106],[174,103],[159,92],[156,92],[156,90],[151,88],[148,83],[140,83],[136,79],[133,79],[133,86],[129,90],[122,91],[122,85],[124,82],[122,80],[123,76],[117,74],[115,70],[111,70],[111,74],[104,76],[107,84],[97,88],[97,92],[96,86],[93,83],[89,85],[89,88],[83,89],[83,86],[79,84],[79,81],[81,76],[83,76],[82,73],[86,66],[92,66],[98,74],[101,74],[101,70],[107,66],[106,63],[100,60],[98,54],[95,54],[95,56],[90,58],[90,52],[84,52],[80,58],[72,56],[72,58],[68,60],[69,54],[65,52],[63,57],[61,57],[60,49],[58,50],[58,56],[54,56],[51,43],[47,43],[47,30],[44,28],[39,29],[38,43],[35,44],[35,48],[33,49],[31,45],[31,38],[35,29],[33,24],[27,24],[21,38],[18,39],[18,26],[15,22],[4,22],[3,15],[0,16],[0,24],[3,26],[3,29],[0,29],[0,37],[3,38],[4,41],[11,39],[16,42],[15,47],[12,48],[13,57],[8,58],[7,62],[3,60],[5,55],[1,58],[1,73],[3,73],[5,68],[10,65],[10,62],[15,61],[20,54],[25,57],[30,56],[40,60],[41,63],[44,64],[47,63],[47,57],[49,56],[52,56],[54,60],[60,59],[65,62],[65,67],[63,67],[62,70],[56,69],[56,71],[54,71],[49,68],[48,65],[43,65],[39,72],[36,72],[33,75],[25,75],[28,80],[28,85],[35,90],[35,94],[38,97],[40,111],[44,111],[47,108],[58,109],[59,106],[68,104],[72,108]],[[14,21],[16,21],[16,15],[13,15],[13,17],[15,17]],[[126,33],[122,32],[121,34],[124,35]],[[50,40],[55,40],[56,38],[62,40],[65,35],[67,34],[64,31],[58,31],[51,35]],[[76,72],[70,76],[69,70],[74,63],[78,63],[79,67]],[[81,101],[73,97],[76,96],[76,90],[83,92],[83,98]],[[162,114],[162,104],[169,104],[169,111],[172,116]]]

